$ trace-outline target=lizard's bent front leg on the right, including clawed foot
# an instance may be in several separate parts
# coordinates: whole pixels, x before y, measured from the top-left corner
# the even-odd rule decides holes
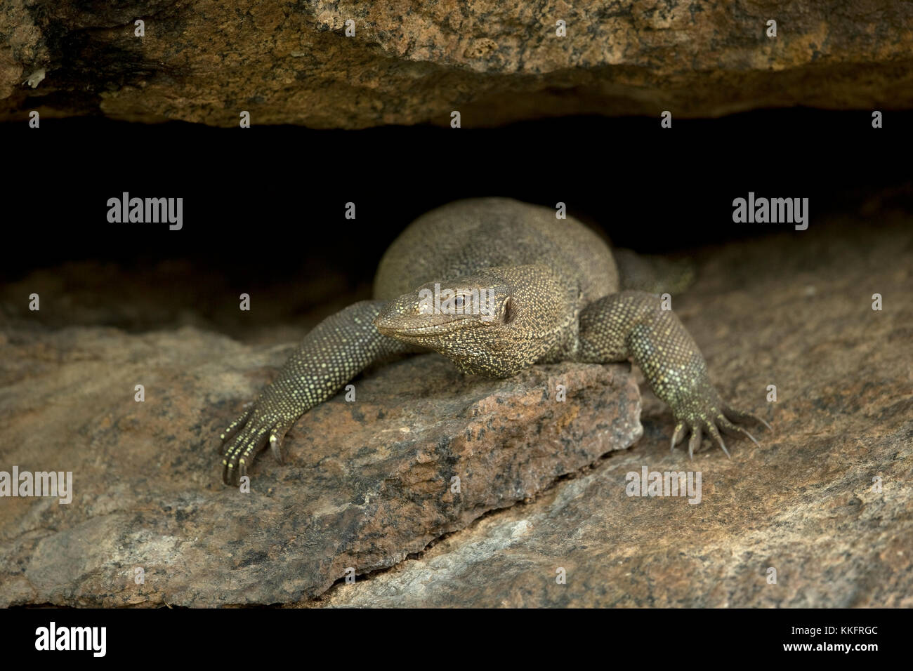
[[[729,456],[720,431],[758,441],[736,421],[764,420],[723,403],[710,383],[707,363],[672,310],[661,309],[660,298],[643,291],[622,291],[594,301],[580,316],[582,362],[607,363],[633,359],[656,396],[676,418],[674,449],[690,431],[688,455],[707,432]]]

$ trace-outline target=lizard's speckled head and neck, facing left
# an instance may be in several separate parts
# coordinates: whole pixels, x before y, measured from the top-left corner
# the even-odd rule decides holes
[[[388,303],[374,325],[444,354],[461,372],[507,377],[560,339],[576,298],[548,267],[492,267],[428,282]]]

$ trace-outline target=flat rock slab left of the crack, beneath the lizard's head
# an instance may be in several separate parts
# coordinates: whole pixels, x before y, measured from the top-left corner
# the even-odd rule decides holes
[[[642,434],[626,366],[490,381],[423,355],[356,380],[353,403],[293,429],[285,466],[263,455],[249,493],[227,488],[215,438],[291,349],[193,327],[0,331],[0,470],[72,471],[74,489],[0,498],[0,605],[307,599]]]

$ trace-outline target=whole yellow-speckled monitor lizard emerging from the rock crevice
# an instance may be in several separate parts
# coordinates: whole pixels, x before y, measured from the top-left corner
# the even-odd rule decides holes
[[[624,281],[624,277],[622,278]],[[690,432],[754,438],[724,404],[698,345],[659,296],[620,290],[603,239],[572,217],[508,198],[446,204],[420,216],[387,249],[374,299],[322,321],[278,378],[226,428],[223,479],[247,475],[267,444],[281,460],[286,432],[373,362],[437,351],[467,374],[509,377],[534,363],[633,360],[672,409],[672,447]]]

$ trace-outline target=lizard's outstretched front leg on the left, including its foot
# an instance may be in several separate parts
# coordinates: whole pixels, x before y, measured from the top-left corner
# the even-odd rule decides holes
[[[362,300],[323,320],[301,341],[276,380],[220,436],[226,485],[247,475],[268,443],[282,460],[282,439],[302,414],[323,403],[369,364],[391,354],[415,351],[381,334],[373,320],[386,305]]]

